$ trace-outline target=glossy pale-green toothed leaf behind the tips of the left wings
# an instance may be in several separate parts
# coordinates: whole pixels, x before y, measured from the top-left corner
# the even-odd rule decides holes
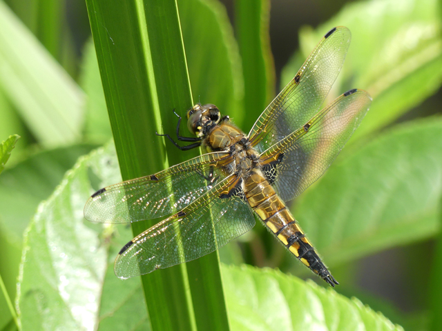
[[[92,225],[84,201],[121,181],[113,146],[81,157],[26,232],[19,292],[23,330],[150,330],[140,279],[113,274],[127,226]]]

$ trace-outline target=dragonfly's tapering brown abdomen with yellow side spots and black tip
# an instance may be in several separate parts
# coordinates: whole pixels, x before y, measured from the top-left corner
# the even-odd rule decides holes
[[[330,285],[338,284],[318,257],[313,245],[305,237],[285,203],[259,171],[253,171],[245,181],[244,192],[251,208],[298,260]]]

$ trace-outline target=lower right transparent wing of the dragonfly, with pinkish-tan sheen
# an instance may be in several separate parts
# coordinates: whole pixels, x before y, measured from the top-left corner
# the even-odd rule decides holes
[[[367,92],[350,90],[262,153],[263,162],[270,162],[264,172],[284,201],[294,199],[329,168],[371,102]]]

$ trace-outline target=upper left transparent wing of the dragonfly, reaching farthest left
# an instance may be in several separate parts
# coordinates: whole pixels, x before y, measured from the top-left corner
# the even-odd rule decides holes
[[[229,153],[214,152],[130,181],[102,188],[88,199],[84,217],[97,223],[129,223],[185,208],[226,177]]]

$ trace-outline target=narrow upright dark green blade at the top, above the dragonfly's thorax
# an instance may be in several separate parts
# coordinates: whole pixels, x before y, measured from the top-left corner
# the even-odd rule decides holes
[[[244,74],[243,130],[251,129],[274,97],[275,74],[269,39],[270,1],[235,1],[235,24]]]

